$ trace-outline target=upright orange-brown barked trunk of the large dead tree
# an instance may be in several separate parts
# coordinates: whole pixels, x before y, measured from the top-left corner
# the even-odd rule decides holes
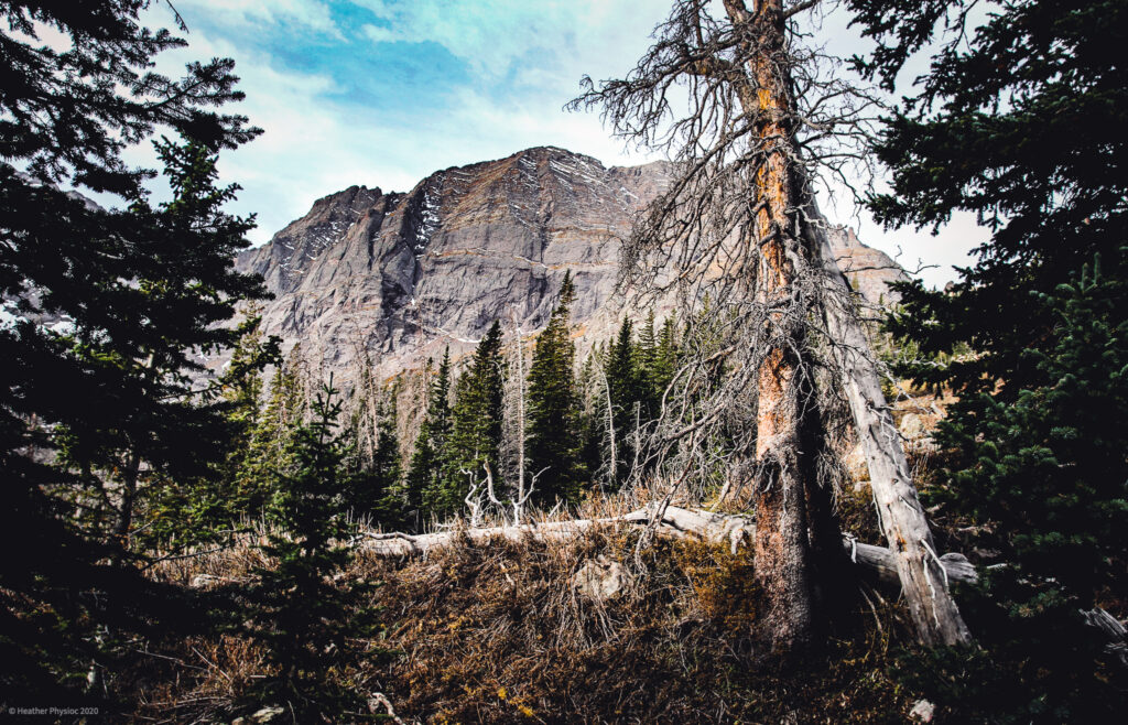
[[[774,307],[790,297],[802,254],[794,215],[795,171],[791,97],[784,65],[781,0],[761,0],[755,15],[743,0],[725,0],[737,27],[751,30],[755,99],[741,92],[744,112],[756,114],[763,160],[757,173],[755,244],[759,246],[757,300]],[[755,104],[755,105],[754,105]],[[813,640],[814,605],[807,531],[804,474],[811,471],[802,450],[802,316],[792,306],[768,317],[768,353],[758,377],[756,459],[756,577],[765,594],[765,634],[782,651],[802,649]]]

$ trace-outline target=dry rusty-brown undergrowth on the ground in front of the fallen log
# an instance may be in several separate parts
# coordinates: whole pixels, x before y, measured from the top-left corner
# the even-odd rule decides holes
[[[428,558],[360,555],[349,576],[381,582],[380,633],[356,643],[373,653],[359,670],[325,677],[382,692],[399,717],[420,723],[905,722],[914,698],[887,674],[900,631],[895,607],[853,612],[825,652],[778,669],[752,638],[749,550],[663,539],[640,548],[638,536],[607,527],[566,543],[462,539]],[[201,596],[237,601],[264,563],[252,543],[165,563],[155,577],[195,580]],[[574,586],[597,557],[628,573],[608,601]],[[243,698],[266,674],[265,660],[237,631],[141,647],[136,672],[120,677],[126,690],[136,680],[135,719],[253,713]]]

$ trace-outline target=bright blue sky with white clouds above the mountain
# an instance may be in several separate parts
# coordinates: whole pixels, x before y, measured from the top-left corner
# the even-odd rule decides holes
[[[431,173],[555,145],[629,166],[658,158],[625,149],[597,113],[563,106],[584,74],[627,73],[664,19],[666,0],[173,0],[188,47],[158,69],[212,56],[236,61],[245,114],[265,133],[220,159],[243,191],[231,210],[256,213],[256,244],[352,185],[405,192]],[[151,25],[171,26],[165,2]],[[831,11],[816,36],[852,53],[864,45]],[[152,163],[148,147],[131,160]],[[828,210],[862,241],[925,269],[926,284],[954,278],[986,238],[968,218],[932,237],[884,232],[841,201]]]

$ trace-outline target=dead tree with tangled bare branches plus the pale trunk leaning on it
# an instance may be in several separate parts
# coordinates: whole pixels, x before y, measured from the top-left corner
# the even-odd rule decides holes
[[[794,18],[817,6],[723,0],[713,15],[714,3],[680,0],[625,79],[585,79],[573,101],[677,163],[624,250],[623,282],[676,292],[690,320],[647,462],[677,486],[716,465],[738,487],[747,480],[766,628],[777,647],[801,648],[813,637],[814,581],[841,556],[830,442],[848,409],[919,638],[968,643],[816,206],[820,174],[865,158],[873,112],[799,43]]]

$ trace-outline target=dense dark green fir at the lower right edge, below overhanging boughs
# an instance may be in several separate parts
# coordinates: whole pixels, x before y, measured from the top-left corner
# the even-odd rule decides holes
[[[1122,665],[1083,620],[1094,604],[1119,605],[1128,586],[1128,265],[1110,267],[1098,258],[1032,295],[1031,312],[1055,326],[1023,355],[1037,371],[1029,387],[1013,401],[961,401],[936,433],[951,452],[945,486],[929,497],[1002,563],[984,573],[970,610],[986,662],[957,658],[941,675],[957,684],[943,693],[957,713],[1095,723],[1128,705]]]

